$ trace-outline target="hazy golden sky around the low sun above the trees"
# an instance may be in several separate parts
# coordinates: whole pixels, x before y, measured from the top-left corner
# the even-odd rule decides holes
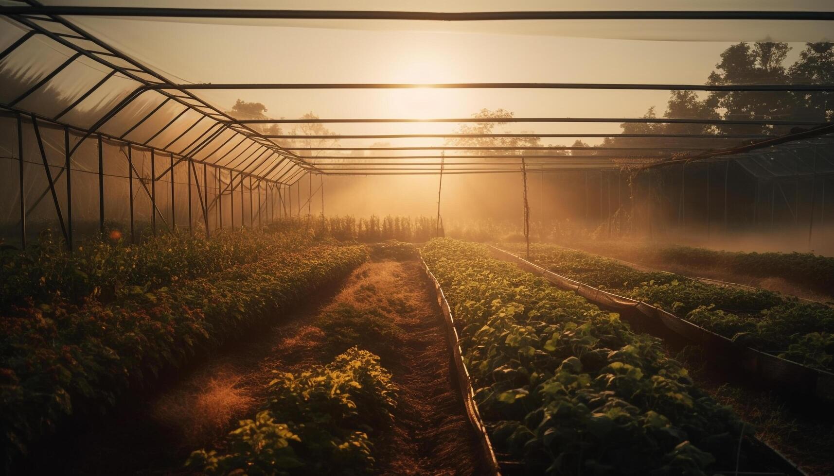
[[[49,2],[114,4],[114,2]],[[214,8],[228,2],[115,2]],[[788,5],[789,4],[789,5]],[[575,8],[834,9],[831,2],[583,2]],[[236,8],[352,8],[477,11],[552,9],[551,2],[238,2]],[[511,7],[511,8],[510,8]],[[74,18],[125,52],[193,83],[704,83],[719,54],[737,40],[818,41],[821,22],[371,22],[156,21]],[[305,28],[297,28],[305,26]],[[320,27],[320,28],[319,28]],[[822,29],[821,29],[822,28]],[[417,31],[415,31],[417,30]],[[427,31],[428,30],[428,31]],[[496,32],[496,33],[490,33]],[[603,38],[589,38],[603,37]],[[612,38],[613,37],[613,38]],[[834,37],[834,35],[832,35]],[[665,41],[623,38],[665,38]],[[720,41],[681,41],[691,39]],[[676,41],[671,41],[676,40]],[[801,43],[793,44],[791,59]],[[666,92],[559,90],[200,91],[230,108],[237,98],[264,103],[272,117],[465,117],[480,108],[516,116],[635,117],[662,113]],[[329,125],[338,133],[443,132],[415,127]],[[594,126],[615,133],[616,124]],[[508,126],[520,130],[527,126]],[[537,126],[540,132],[588,131],[587,125]]]

